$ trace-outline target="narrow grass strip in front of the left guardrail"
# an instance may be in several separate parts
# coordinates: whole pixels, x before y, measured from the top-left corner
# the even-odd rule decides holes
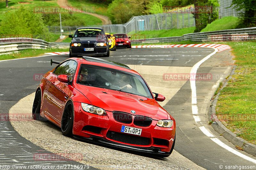
[[[0,55],[0,60],[26,58],[26,57],[39,56],[49,52],[67,52],[67,51],[69,51],[68,48],[25,49],[25,50],[19,51],[18,53]]]

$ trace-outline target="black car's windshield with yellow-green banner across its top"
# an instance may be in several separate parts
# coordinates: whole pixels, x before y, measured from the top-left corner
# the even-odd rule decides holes
[[[74,37],[97,37],[97,36],[106,36],[105,33],[100,29],[93,28],[82,28],[76,30]]]

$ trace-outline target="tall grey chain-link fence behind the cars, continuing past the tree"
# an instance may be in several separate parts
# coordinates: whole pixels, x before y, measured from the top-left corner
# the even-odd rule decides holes
[[[229,7],[232,0],[219,0],[219,18],[226,16],[237,17],[239,12]],[[229,7],[229,8],[228,8]],[[138,31],[168,30],[172,28],[186,28],[195,26],[195,18],[190,12],[181,13],[158,13],[132,17],[125,24],[101,25],[107,33],[137,33]],[[62,26],[64,33],[73,34],[77,28],[86,26]],[[60,26],[48,26],[50,32],[60,33]]]

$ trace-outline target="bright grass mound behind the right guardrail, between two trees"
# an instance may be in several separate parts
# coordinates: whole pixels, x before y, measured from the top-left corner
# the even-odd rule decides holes
[[[204,29],[202,29],[201,32],[236,29],[237,26],[238,17],[229,16],[213,21],[211,24],[208,24]]]

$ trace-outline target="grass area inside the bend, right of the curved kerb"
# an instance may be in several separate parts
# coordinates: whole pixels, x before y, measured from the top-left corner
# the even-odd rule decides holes
[[[226,42],[236,56],[237,69],[220,91],[216,115],[237,136],[256,144],[256,42]],[[225,118],[227,117],[227,118]],[[228,121],[228,122],[227,122]]]

